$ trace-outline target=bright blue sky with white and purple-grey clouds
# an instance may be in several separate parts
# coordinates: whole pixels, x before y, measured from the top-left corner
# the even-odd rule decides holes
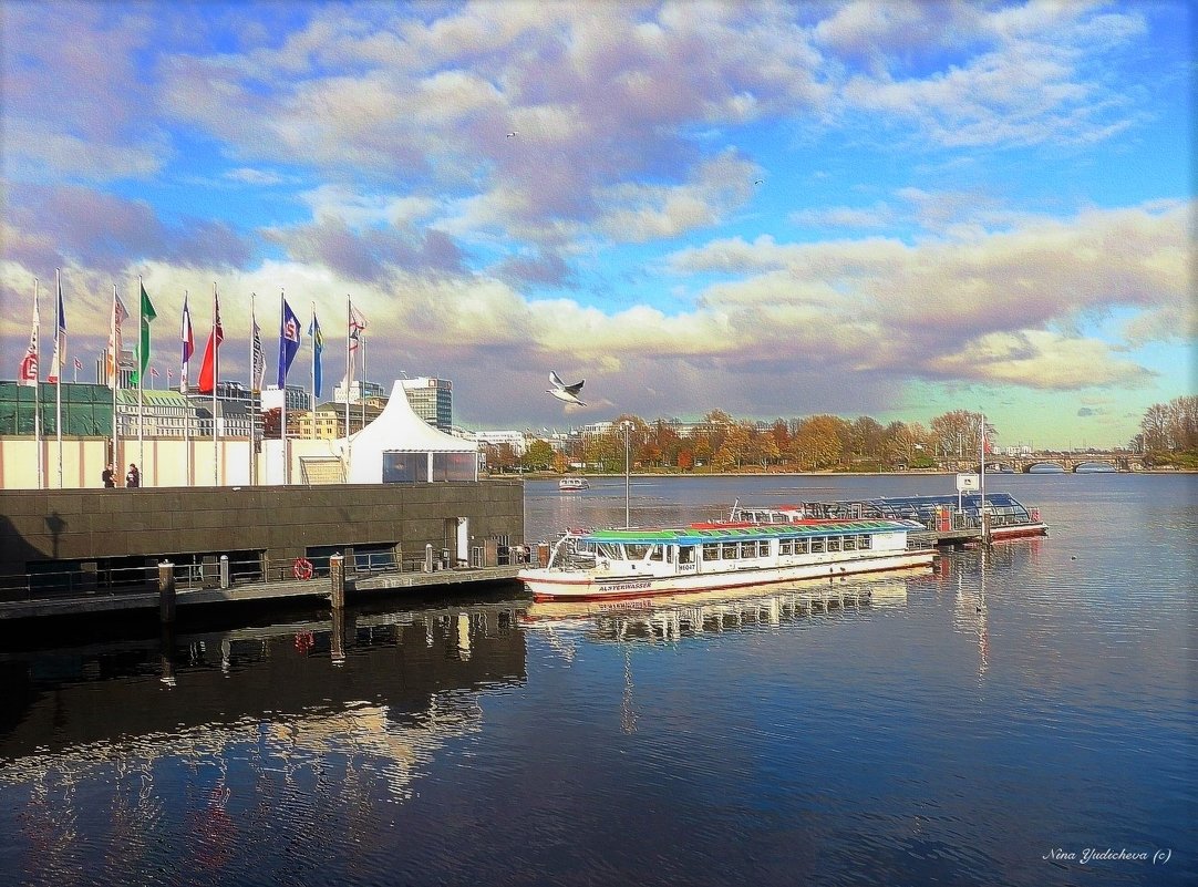
[[[477,429],[963,409],[1121,446],[1198,391],[1181,0],[2,0],[0,29],[2,378],[35,278],[50,363],[59,270],[86,380],[139,276],[159,385],[184,294],[200,342],[219,294],[222,378],[252,294],[267,378],[280,296],[315,309],[326,387],[352,300],[365,376],[450,379]]]

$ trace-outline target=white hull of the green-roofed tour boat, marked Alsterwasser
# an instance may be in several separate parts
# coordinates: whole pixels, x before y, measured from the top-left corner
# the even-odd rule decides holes
[[[799,579],[835,579],[858,573],[930,568],[931,550],[888,551],[870,557],[794,563],[761,569],[740,569],[671,575],[595,575],[586,571],[525,569],[519,574],[533,601],[621,601],[694,591],[725,591],[758,585],[778,585]]]

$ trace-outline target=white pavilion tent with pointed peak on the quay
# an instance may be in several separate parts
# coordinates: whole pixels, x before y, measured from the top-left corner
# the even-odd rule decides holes
[[[349,440],[350,483],[477,481],[478,448],[416,415],[397,381],[379,418]]]

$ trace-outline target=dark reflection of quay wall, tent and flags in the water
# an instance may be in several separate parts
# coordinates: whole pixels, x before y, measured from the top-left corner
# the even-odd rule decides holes
[[[214,635],[164,629],[158,648],[4,660],[12,692],[0,723],[12,728],[0,734],[0,790],[24,797],[22,843],[46,871],[72,877],[83,849],[107,846],[90,867],[117,881],[147,853],[226,870],[280,817],[289,831],[308,823],[316,852],[329,809],[367,810],[380,792],[410,799],[437,750],[479,730],[479,693],[525,681],[516,607],[334,610],[331,621]],[[181,807],[180,844],[164,847]]]

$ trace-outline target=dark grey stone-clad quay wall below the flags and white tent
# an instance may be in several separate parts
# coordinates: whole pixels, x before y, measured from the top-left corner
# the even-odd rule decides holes
[[[522,544],[524,483],[6,489],[0,575],[24,575],[31,562],[249,550],[278,571],[307,547],[380,543],[410,560],[425,544],[453,551],[460,518],[472,547],[503,535]]]

